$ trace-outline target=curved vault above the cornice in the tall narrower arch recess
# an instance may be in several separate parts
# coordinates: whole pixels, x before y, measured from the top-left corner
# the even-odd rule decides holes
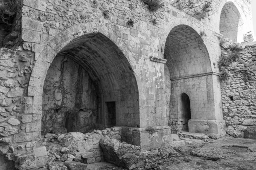
[[[164,49],[171,79],[212,71],[204,40],[190,26],[178,25],[172,28]]]

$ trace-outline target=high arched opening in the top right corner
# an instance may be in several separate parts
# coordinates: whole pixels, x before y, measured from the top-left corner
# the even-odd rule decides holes
[[[220,33],[234,42],[243,42],[244,20],[233,2],[227,2],[221,9]]]

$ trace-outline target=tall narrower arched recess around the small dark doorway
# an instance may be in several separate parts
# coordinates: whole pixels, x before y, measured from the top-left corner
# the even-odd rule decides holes
[[[213,84],[218,74],[212,71],[202,37],[191,26],[177,25],[169,32],[164,49],[171,79],[169,125],[174,131],[182,130],[180,125],[185,121],[179,116],[179,97],[186,93],[191,104],[189,132],[223,134],[223,116],[215,102],[215,97],[220,96],[220,89]]]

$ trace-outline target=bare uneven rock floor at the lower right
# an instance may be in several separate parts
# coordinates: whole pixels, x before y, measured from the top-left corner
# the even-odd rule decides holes
[[[168,158],[148,159],[145,167],[135,170],[256,170],[256,140],[233,137],[209,140],[203,135],[191,138],[174,141],[174,150]]]

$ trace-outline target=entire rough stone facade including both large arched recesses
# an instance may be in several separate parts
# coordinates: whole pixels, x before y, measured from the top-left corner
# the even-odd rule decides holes
[[[122,142],[142,151],[168,146],[171,130],[226,133],[218,26],[232,3],[241,32],[252,30],[248,3],[214,0],[198,20],[169,1],[157,11],[140,0],[20,2],[0,49],[0,160],[43,166],[41,134],[65,129],[116,125]]]

